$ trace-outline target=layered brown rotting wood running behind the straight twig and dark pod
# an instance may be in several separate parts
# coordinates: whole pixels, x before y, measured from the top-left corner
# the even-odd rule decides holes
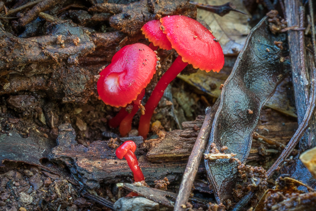
[[[155,163],[187,160],[191,155],[202,124],[202,121],[184,122],[182,123],[183,130],[168,132],[162,140],[145,140],[144,144],[149,148],[147,153],[148,160]],[[256,132],[281,144],[286,144],[296,128],[297,122],[294,119],[284,117],[272,109],[265,109],[261,112]],[[262,153],[261,148],[258,150],[262,145],[265,147],[263,150],[266,152]],[[277,148],[254,139],[247,162],[264,161],[276,155],[279,152]]]

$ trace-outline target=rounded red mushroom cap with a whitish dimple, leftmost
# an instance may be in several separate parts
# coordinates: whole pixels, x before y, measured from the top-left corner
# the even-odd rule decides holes
[[[100,98],[105,104],[125,107],[149,84],[156,73],[156,65],[156,54],[147,45],[124,46],[100,73],[97,83]]]

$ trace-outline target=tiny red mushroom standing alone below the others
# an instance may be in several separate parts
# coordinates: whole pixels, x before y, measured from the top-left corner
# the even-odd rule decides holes
[[[134,154],[136,150],[136,144],[134,141],[125,141],[122,145],[118,147],[115,151],[118,159],[126,159],[129,168],[133,171],[135,182],[140,182],[145,180],[144,174],[140,167],[138,166],[137,158]]]

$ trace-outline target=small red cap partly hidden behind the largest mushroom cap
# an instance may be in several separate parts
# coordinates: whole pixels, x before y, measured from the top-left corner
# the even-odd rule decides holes
[[[153,42],[155,46],[171,50],[171,43],[168,41],[167,36],[163,34],[160,26],[161,23],[159,20],[149,21],[142,27],[143,34],[145,38],[147,38],[149,42]]]

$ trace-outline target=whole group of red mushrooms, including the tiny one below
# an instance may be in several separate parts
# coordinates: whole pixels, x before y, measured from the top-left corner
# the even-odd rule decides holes
[[[119,126],[121,136],[126,136],[131,130],[133,116],[142,106],[145,88],[160,66],[154,50],[160,47],[177,51],[179,56],[162,75],[142,109],[145,113],[140,117],[138,133],[146,139],[152,115],[167,85],[188,64],[206,72],[219,72],[224,66],[224,54],[212,33],[196,20],[186,16],[166,16],[160,20],[149,21],[142,27],[142,31],[151,42],[150,45],[135,43],[121,48],[113,56],[112,63],[101,71],[97,89],[105,104],[121,107],[117,116],[109,121],[109,126]],[[126,107],[130,105],[133,108],[128,113]],[[119,159],[125,157],[137,182],[144,180],[144,175],[134,155],[135,149],[134,142],[125,141],[116,154]]]

